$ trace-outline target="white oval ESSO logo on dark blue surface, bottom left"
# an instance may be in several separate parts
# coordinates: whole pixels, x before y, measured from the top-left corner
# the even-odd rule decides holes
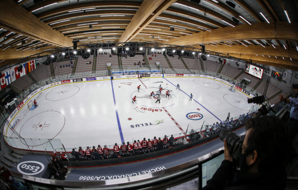
[[[44,170],[44,165],[37,161],[26,161],[19,163],[16,169],[21,174],[36,175]]]

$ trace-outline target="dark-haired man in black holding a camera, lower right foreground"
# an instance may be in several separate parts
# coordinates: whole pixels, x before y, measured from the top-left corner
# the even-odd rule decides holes
[[[284,189],[285,161],[292,145],[282,122],[273,116],[257,117],[246,123],[244,140],[229,139],[233,135],[235,139],[236,134],[221,136],[225,159],[204,189]]]

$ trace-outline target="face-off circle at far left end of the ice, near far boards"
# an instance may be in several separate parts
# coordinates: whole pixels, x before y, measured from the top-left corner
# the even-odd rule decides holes
[[[80,88],[75,85],[63,85],[48,92],[46,95],[46,99],[49,101],[64,100],[66,98],[74,96],[76,93],[79,92],[79,90]]]

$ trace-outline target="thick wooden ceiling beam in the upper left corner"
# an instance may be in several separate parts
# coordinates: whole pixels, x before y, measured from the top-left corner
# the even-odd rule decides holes
[[[0,26],[40,41],[58,46],[72,46],[72,40],[60,32],[53,30],[49,25],[41,22],[34,15],[18,6],[14,1],[0,1]]]

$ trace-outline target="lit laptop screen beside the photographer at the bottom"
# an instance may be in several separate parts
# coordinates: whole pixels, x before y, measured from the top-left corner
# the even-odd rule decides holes
[[[202,163],[202,187],[207,185],[207,182],[212,178],[213,174],[219,168],[221,162],[224,160],[224,153],[212,158],[211,160]]]

